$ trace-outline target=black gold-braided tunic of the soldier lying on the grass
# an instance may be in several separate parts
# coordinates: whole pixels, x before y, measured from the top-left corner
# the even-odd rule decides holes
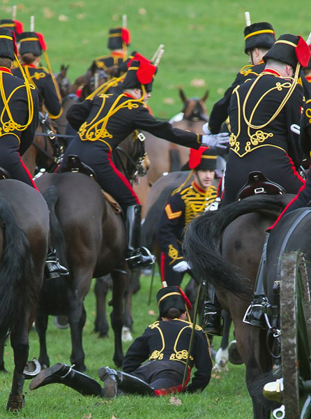
[[[146,364],[146,371],[150,371],[150,361],[158,365],[161,370],[162,362],[171,362],[172,371],[174,371],[174,362],[176,370],[179,372],[181,366],[185,366],[188,357],[188,348],[192,323],[175,318],[170,321],[156,321],[144,331],[144,334],[137,337],[132,343],[123,360],[123,371],[128,374],[137,375],[135,372],[139,369],[139,378],[142,377],[142,362],[149,360]],[[154,364],[153,364],[154,365]],[[140,367],[140,368],[139,368]],[[208,352],[208,341],[206,335],[199,326],[195,327],[194,341],[190,356],[189,367],[195,367],[197,371],[192,378],[192,382],[187,387],[188,392],[204,390],[211,378],[211,358]],[[155,366],[156,368],[156,366]],[[166,371],[164,372],[166,374]],[[144,381],[148,380],[148,373],[144,376]],[[182,381],[182,378],[181,378]],[[162,388],[169,388],[170,384]]]

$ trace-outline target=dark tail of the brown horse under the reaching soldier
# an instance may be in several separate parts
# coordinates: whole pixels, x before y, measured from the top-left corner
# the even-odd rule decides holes
[[[54,185],[50,186],[50,188],[43,193],[43,196],[45,197],[47,207],[50,210],[50,228],[53,246],[56,249],[57,256],[59,260],[61,260],[61,263],[68,266],[66,260],[65,237],[55,212],[55,206],[59,200],[59,194],[57,193],[56,187]]]

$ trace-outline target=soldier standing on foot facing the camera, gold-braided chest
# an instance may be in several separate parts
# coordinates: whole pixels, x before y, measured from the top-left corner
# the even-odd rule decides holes
[[[217,189],[212,184],[216,160],[213,149],[191,149],[189,167],[195,179],[190,186],[174,191],[162,212],[158,242],[161,248],[161,277],[168,285],[180,286],[188,270],[181,251],[185,228],[217,197]]]

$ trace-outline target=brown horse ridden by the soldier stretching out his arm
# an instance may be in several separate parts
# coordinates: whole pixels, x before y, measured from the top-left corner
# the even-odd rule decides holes
[[[134,161],[144,154],[143,143],[130,136],[121,143],[123,167],[136,170]],[[130,162],[128,160],[130,159]],[[126,230],[122,214],[116,214],[92,177],[82,173],[50,173],[36,184],[47,199],[52,219],[54,247],[70,276],[46,281],[40,293],[36,330],[40,340],[41,365],[50,365],[45,342],[47,318],[67,315],[72,337],[70,361],[84,371],[82,329],[86,321],[83,300],[91,279],[111,274],[113,281],[111,314],[115,350],[113,360],[119,367],[123,360],[121,330],[123,296],[130,271],[126,263]]]

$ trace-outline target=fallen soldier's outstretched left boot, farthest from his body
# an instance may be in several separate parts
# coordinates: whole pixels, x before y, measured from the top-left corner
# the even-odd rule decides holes
[[[31,380],[29,389],[36,390],[36,388],[52,383],[67,385],[67,387],[73,388],[73,390],[85,396],[102,396],[103,393],[100,383],[61,362],[39,372]]]

